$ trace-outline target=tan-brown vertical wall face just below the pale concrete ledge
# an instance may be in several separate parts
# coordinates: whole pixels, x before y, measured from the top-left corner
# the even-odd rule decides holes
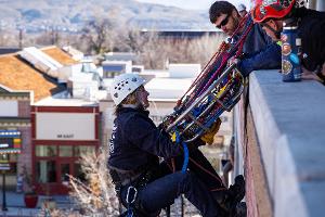
[[[244,170],[246,179],[246,205],[248,217],[273,216],[271,196],[264,173],[260,148],[256,136],[250,107],[245,108],[243,98],[237,104],[237,125],[239,125],[240,141],[243,146]]]

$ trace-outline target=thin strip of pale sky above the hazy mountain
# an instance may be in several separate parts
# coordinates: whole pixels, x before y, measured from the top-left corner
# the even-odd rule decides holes
[[[214,0],[136,0],[136,1],[173,5],[181,9],[191,9],[191,10],[194,9],[194,10],[206,10],[206,11],[208,11],[211,3],[214,2]],[[229,2],[233,3],[235,7],[239,3],[245,3],[248,7],[249,1],[250,0],[229,0]]]

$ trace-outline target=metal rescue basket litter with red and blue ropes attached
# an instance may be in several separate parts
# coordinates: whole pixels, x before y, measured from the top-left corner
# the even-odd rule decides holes
[[[240,59],[243,46],[253,23],[246,15],[238,28],[223,41],[203,72],[178,101],[174,112],[162,120],[171,137],[179,135],[182,142],[191,142],[205,135],[224,111],[231,111],[244,90],[244,76],[231,59]],[[240,36],[237,37],[238,31]],[[233,42],[235,41],[235,42]]]

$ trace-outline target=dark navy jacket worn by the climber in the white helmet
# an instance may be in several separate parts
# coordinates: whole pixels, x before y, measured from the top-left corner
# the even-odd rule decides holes
[[[170,137],[159,130],[147,111],[121,108],[114,120],[108,165],[134,170],[158,165],[158,156],[170,158],[182,154]]]

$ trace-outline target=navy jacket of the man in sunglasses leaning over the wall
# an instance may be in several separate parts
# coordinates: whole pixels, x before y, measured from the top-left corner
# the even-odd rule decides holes
[[[252,71],[281,68],[281,47],[258,24],[253,24],[248,34],[243,52],[238,68],[244,76]]]

